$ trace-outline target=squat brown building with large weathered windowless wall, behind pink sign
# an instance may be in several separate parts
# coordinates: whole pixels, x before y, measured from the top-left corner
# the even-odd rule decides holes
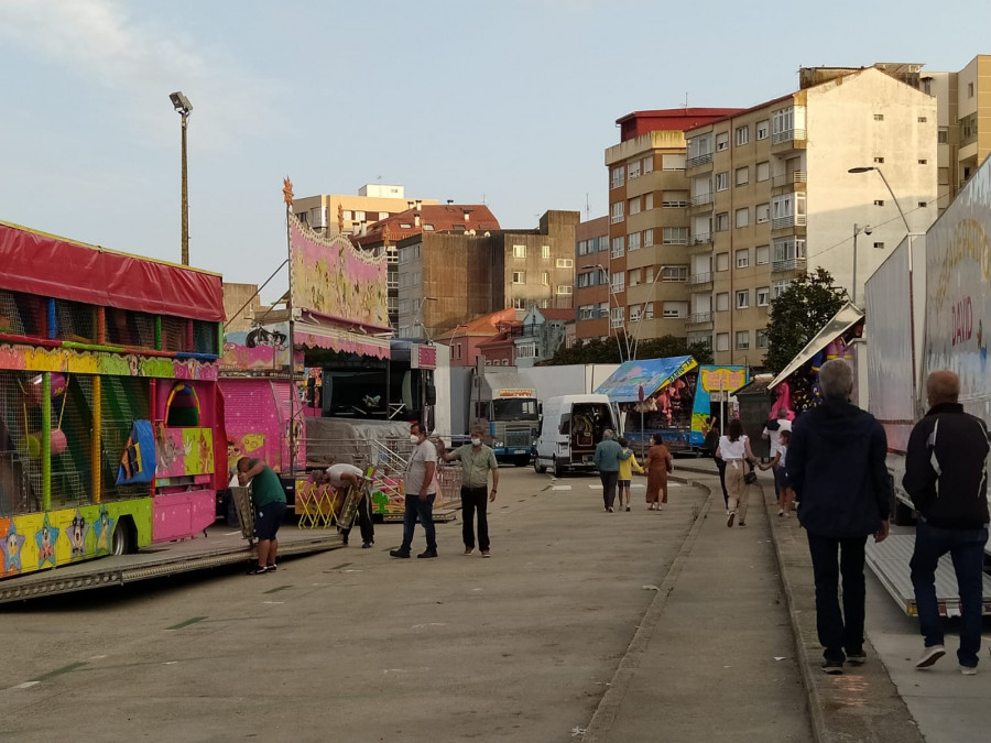
[[[499,309],[573,308],[577,211],[530,230],[425,231],[399,249],[399,334],[433,338]]]

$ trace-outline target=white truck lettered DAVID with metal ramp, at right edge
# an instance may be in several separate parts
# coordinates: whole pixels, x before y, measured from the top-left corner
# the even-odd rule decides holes
[[[925,380],[949,369],[960,378],[960,402],[991,419],[988,338],[991,319],[991,161],[985,161],[926,234],[910,234],[865,284],[868,408],[887,434],[895,502],[892,521],[907,523],[912,501],[902,489],[908,434],[925,414]],[[915,537],[868,540],[868,564],[908,613],[915,597],[908,560]],[[959,613],[949,558],[936,576],[940,611]],[[984,613],[991,577],[984,576]]]

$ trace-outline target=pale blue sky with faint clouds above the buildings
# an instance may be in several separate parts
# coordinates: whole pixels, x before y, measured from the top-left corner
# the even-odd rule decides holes
[[[989,25],[988,0],[0,0],[0,220],[178,262],[175,90],[190,263],[227,281],[285,258],[285,176],[595,218],[627,113],[754,106],[803,66],[954,72]]]

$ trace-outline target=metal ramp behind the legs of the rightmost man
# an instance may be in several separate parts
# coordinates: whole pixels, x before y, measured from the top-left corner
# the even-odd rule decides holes
[[[915,605],[915,589],[912,587],[908,562],[915,548],[914,534],[893,534],[884,542],[875,544],[868,538],[867,564],[870,566],[881,584],[891,593],[892,598],[910,616],[917,616]],[[991,614],[991,576],[987,572],[983,577],[983,609],[982,614]],[[949,555],[939,559],[936,568],[936,601],[939,605],[939,614],[943,616],[960,615],[960,598],[957,594],[957,576],[954,572],[954,564]]]

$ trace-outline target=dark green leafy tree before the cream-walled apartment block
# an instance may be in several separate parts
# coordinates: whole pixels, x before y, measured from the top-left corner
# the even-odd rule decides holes
[[[821,266],[795,280],[771,301],[764,365],[774,374],[787,367],[843,302],[834,286],[832,274]]]

